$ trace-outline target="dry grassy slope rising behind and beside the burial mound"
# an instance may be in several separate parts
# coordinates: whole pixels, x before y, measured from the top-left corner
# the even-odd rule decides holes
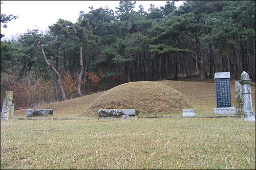
[[[157,81],[170,86],[186,97],[186,99],[197,110],[197,115],[212,115],[213,108],[216,107],[216,92],[214,81],[209,82],[191,82],[191,81]],[[251,85],[253,110],[255,113],[255,85]],[[150,91],[148,91],[150,92]],[[52,103],[36,108],[49,108],[54,110],[56,117],[89,116],[82,115],[88,106],[104,92],[82,96],[81,98],[71,99],[58,103]],[[235,107],[234,81],[231,82],[232,107]],[[180,113],[181,115],[182,113]],[[15,110],[15,115],[26,116],[26,109]]]

